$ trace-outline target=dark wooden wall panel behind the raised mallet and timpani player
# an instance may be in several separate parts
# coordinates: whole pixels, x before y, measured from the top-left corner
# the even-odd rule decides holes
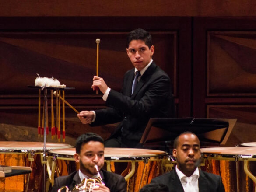
[[[176,35],[172,32],[151,33],[155,42],[155,61],[176,83]],[[69,91],[72,94],[94,94],[91,84],[96,73],[96,38],[101,39],[99,76],[109,87],[119,91],[124,73],[133,68],[126,54],[126,34],[1,33],[0,63],[4,72],[0,77],[4,82],[0,85],[1,94],[32,94],[35,91],[27,85],[35,84],[36,73],[41,77],[55,77],[67,87],[75,87]]]

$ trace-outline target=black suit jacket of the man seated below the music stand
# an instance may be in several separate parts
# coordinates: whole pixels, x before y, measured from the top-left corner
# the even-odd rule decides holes
[[[167,185],[169,191],[184,191],[175,169],[152,179],[150,185],[159,183]],[[225,191],[221,176],[201,170],[199,170],[198,185],[199,191]]]

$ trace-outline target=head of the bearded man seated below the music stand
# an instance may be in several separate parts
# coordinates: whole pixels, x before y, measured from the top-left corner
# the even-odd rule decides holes
[[[177,159],[177,167],[186,176],[191,176],[196,170],[196,161],[200,159],[199,139],[187,133],[181,135],[178,140],[177,149],[172,151],[173,157]]]

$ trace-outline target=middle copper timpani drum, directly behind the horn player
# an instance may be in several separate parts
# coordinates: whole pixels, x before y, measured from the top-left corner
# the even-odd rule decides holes
[[[74,161],[74,154],[75,148],[49,151],[49,156],[53,159],[65,161]],[[104,156],[108,171],[116,172],[119,163],[127,163],[121,175],[127,181],[128,191],[139,191],[142,186],[150,183],[152,178],[161,175],[163,160],[168,161],[168,154],[164,151],[149,149],[105,147]]]

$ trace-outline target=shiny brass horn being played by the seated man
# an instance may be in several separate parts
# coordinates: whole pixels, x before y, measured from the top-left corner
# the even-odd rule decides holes
[[[63,189],[66,189],[66,192],[91,192],[97,183],[105,185],[105,183],[102,181],[101,175],[99,174],[97,165],[95,165],[95,169],[98,172],[98,178],[84,178],[83,181],[74,186],[71,191],[68,189],[67,186],[63,186],[58,189],[58,192],[61,192]]]

